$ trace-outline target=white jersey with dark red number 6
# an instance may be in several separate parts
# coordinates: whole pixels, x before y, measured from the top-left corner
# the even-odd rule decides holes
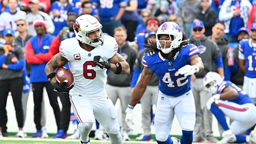
[[[68,59],[69,68],[74,75],[75,86],[69,94],[86,96],[89,99],[105,97],[107,69],[93,64],[94,57],[100,55],[107,62],[117,50],[116,39],[111,36],[104,36],[103,46],[97,46],[90,52],[80,47],[75,37],[62,41],[59,52]]]

